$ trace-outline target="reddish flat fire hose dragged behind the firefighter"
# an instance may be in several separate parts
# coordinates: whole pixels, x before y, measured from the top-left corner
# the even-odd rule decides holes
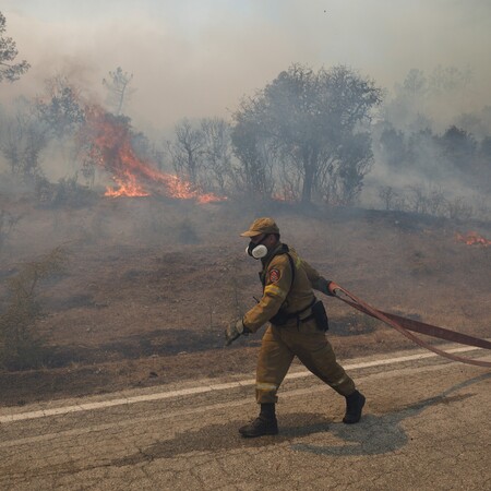
[[[487,339],[480,339],[478,337],[469,336],[467,334],[457,333],[455,331],[450,331],[443,327],[438,327],[435,325],[426,324],[423,322],[415,321],[412,319],[402,318],[399,315],[383,312],[369,306],[367,302],[359,299],[354,294],[351,294],[350,291],[340,287],[337,284],[330,285],[330,289],[331,291],[333,291],[334,296],[338,300],[344,301],[348,306],[351,306],[352,308],[359,310],[360,312],[363,312],[367,315],[379,319],[380,321],[395,328],[400,334],[403,334],[417,345],[421,346],[422,348],[429,349],[430,351],[433,351],[436,355],[440,355],[441,357],[448,358],[454,361],[459,361],[462,363],[468,364],[476,364],[478,367],[491,368],[491,361],[475,360],[471,358],[465,358],[454,354],[446,352],[440,348],[435,348],[434,346],[430,345],[429,343],[424,342],[418,336],[415,336],[409,331],[426,334],[428,336],[436,337],[440,339],[450,340],[453,343],[459,343],[468,346],[476,346],[477,348],[491,349],[491,342]],[[343,294],[345,294],[347,298],[338,296],[337,291],[342,291]]]

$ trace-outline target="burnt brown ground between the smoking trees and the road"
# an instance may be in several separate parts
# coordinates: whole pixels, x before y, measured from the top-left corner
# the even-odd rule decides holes
[[[63,247],[62,274],[38,285],[41,366],[0,369],[2,405],[112,392],[178,380],[251,373],[261,335],[223,347],[224,325],[261,295],[258,263],[238,233],[274,216],[284,242],[369,303],[490,337],[491,223],[403,213],[239,207],[155,199],[100,199],[81,209],[43,209],[0,199],[20,217],[0,249],[0,295],[20,265]],[[414,345],[378,321],[324,297],[339,358]],[[5,300],[2,303],[5,307]]]

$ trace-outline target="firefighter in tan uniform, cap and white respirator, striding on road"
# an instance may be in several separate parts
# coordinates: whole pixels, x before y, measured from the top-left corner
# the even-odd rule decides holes
[[[361,418],[364,396],[337,363],[325,331],[327,315],[322,301],[312,290],[334,296],[337,285],[322,277],[301,260],[297,252],[282,243],[279,229],[272,218],[258,218],[249,230],[240,233],[250,239],[249,255],[261,260],[261,300],[242,319],[225,330],[226,345],[241,335],[255,333],[270,323],[258,360],[255,394],[260,415],[239,429],[246,438],[277,434],[276,393],[294,360],[299,360],[319,379],[346,398],[345,423]]]

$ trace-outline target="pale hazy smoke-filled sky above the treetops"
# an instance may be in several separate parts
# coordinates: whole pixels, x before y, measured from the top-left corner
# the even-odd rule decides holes
[[[346,64],[392,89],[407,72],[470,69],[468,110],[491,104],[487,0],[3,0],[7,35],[31,70],[1,100],[67,75],[94,100],[121,67],[127,113],[149,128],[223,116],[292,62]],[[463,108],[458,108],[462,110]]]

